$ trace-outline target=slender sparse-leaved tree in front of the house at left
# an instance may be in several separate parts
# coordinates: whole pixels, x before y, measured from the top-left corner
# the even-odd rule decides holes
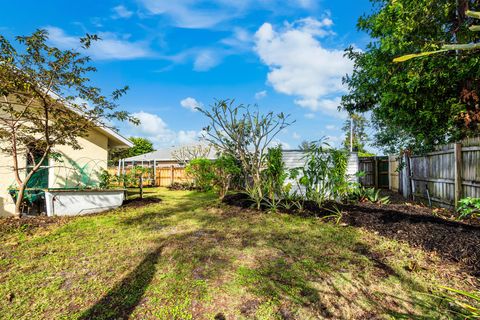
[[[20,217],[28,182],[48,158],[59,156],[58,146],[80,149],[78,138],[92,128],[113,119],[136,121],[116,110],[127,87],[106,97],[90,85],[88,75],[96,69],[88,57],[49,46],[44,30],[16,40],[19,50],[0,35],[0,151],[12,159]],[[87,35],[80,43],[86,49],[96,40]]]

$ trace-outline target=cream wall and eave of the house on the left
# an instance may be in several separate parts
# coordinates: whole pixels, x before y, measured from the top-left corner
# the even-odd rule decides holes
[[[109,150],[133,146],[128,139],[122,137],[114,130],[101,127],[91,130],[86,137],[79,137],[78,141],[82,147],[79,150],[74,150],[69,146],[57,146],[55,151],[60,153],[61,157],[57,160],[49,159],[46,161],[42,169],[32,177],[28,187],[43,190],[85,190],[97,188],[100,182],[100,173],[107,169]],[[24,161],[28,170],[26,158],[21,161]],[[12,163],[11,156],[0,154],[0,216],[12,215],[15,211],[13,199],[8,191],[11,186],[16,185]],[[75,196],[78,195],[79,193]],[[74,201],[85,202],[85,200],[92,200],[91,197],[90,199],[86,199],[88,196],[85,197],[85,194],[82,197],[82,199],[77,197],[75,200],[71,198],[68,199],[68,201],[74,204]],[[55,201],[55,198],[51,200]],[[57,204],[61,205],[62,203],[57,201]],[[48,210],[48,201],[46,206]],[[105,208],[107,208],[107,206],[105,206]],[[53,212],[53,209],[51,210]],[[89,211],[88,208],[82,210],[83,211],[79,211],[78,213],[95,212],[93,209]]]

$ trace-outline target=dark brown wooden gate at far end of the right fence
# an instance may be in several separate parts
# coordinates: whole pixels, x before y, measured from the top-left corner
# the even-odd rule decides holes
[[[389,161],[388,157],[360,157],[359,171],[365,175],[360,178],[360,183],[365,187],[389,187]]]

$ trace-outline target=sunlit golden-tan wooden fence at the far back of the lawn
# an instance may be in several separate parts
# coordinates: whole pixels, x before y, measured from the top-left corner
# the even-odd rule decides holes
[[[126,168],[125,172],[130,173],[131,168]],[[111,168],[109,169],[111,174],[117,175],[118,169]],[[143,174],[143,184],[144,186],[151,187],[168,187],[173,183],[189,183],[193,182],[185,172],[184,167],[157,167],[151,168],[149,172]]]

